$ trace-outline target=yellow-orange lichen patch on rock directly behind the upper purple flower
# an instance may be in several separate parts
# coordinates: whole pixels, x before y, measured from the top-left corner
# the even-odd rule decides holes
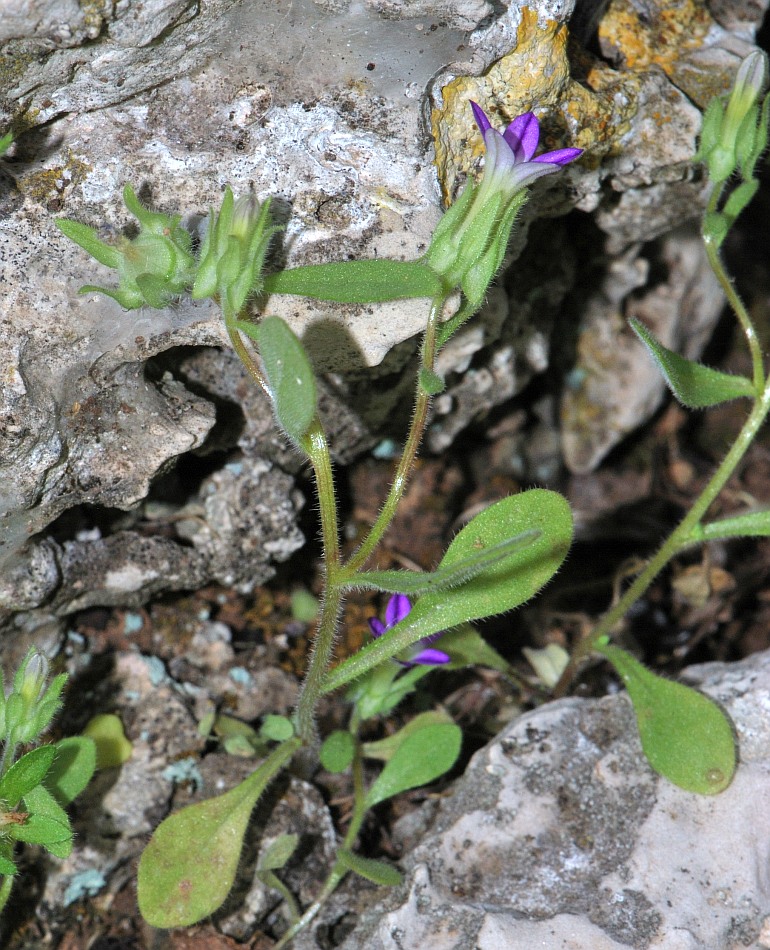
[[[483,153],[469,101],[482,106],[497,126],[530,110],[545,119],[547,149],[574,145],[587,161],[613,151],[636,111],[638,78],[620,76],[587,60],[582,83],[573,79],[564,24],[538,22],[528,7],[521,11],[515,48],[484,76],[460,76],[441,90],[443,105],[431,114],[436,166],[444,199],[454,196],[458,177]],[[575,51],[570,50],[570,55]]]

